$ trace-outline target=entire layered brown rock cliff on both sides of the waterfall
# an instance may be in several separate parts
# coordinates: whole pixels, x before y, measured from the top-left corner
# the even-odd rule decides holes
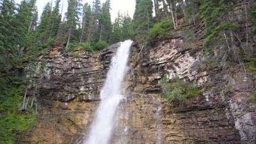
[[[234,19],[239,17],[243,16],[238,11]],[[130,70],[123,83],[127,99],[116,113],[119,123],[111,143],[255,142],[256,107],[250,100],[255,93],[255,71],[236,63],[232,69],[223,69],[211,60],[214,57],[200,55],[202,32],[203,22],[184,26],[154,46],[132,46]],[[250,37],[249,45],[253,43]],[[44,108],[17,143],[79,143],[84,134],[86,139],[118,46],[101,53],[80,52],[77,58],[55,47],[42,57],[46,66],[38,101]],[[183,104],[170,103],[161,96],[164,75],[194,82],[204,92]]]

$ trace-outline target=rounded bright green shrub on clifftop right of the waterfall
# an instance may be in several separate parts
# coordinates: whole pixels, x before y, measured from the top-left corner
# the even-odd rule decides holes
[[[161,20],[153,28],[149,29],[150,39],[166,39],[172,34],[172,22],[170,19]]]

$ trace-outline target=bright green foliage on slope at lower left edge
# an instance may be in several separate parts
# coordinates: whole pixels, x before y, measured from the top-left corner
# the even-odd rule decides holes
[[[5,79],[0,77],[0,143],[14,143],[15,131],[27,130],[36,119],[34,107],[29,107],[26,113],[20,113],[20,102],[25,85],[22,77],[10,77],[11,83],[7,85]]]

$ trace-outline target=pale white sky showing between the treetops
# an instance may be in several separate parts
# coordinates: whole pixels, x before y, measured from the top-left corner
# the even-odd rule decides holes
[[[22,0],[16,0],[16,3],[20,3]],[[42,14],[44,5],[48,2],[53,1],[53,4],[55,4],[55,0],[37,0],[37,9],[38,9],[38,14],[39,16]],[[63,1],[63,13],[62,15],[65,14],[65,12],[67,11],[67,0],[62,0]],[[60,2],[60,4],[62,5],[62,1]],[[88,2],[91,7],[92,7],[92,2],[94,0],[83,0],[82,4],[84,4],[85,2]],[[102,2],[105,2],[106,0],[101,0]],[[120,10],[121,13],[126,13],[127,11],[129,12],[129,15],[132,17],[133,13],[135,11],[135,0],[110,0],[111,2],[111,8],[112,10],[110,11],[111,14],[111,20],[112,22],[114,22],[115,17],[117,16],[118,10]],[[60,5],[60,10],[61,10],[61,6]]]

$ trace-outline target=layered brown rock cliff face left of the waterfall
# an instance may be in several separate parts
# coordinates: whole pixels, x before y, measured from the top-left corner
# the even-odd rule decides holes
[[[17,143],[75,143],[79,140],[95,116],[110,58],[118,46],[110,46],[100,55],[80,51],[77,58],[72,52],[55,47],[48,51],[49,55],[40,57],[46,65],[37,100],[44,108],[36,124],[20,135]]]

